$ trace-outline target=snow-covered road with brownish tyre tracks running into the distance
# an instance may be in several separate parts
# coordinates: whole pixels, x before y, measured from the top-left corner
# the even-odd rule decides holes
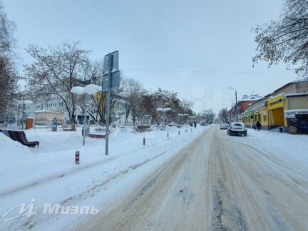
[[[229,137],[213,126],[148,175],[128,174],[133,187],[113,182],[118,192],[98,215],[64,230],[308,230],[307,154],[274,148],[287,134],[267,143],[269,132],[253,132]]]

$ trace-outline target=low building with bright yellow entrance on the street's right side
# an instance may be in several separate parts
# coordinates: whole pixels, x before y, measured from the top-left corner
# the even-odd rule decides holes
[[[300,109],[300,110],[297,110]],[[294,110],[296,110],[294,112]],[[286,132],[295,130],[294,125],[289,128],[288,122],[294,119],[296,115],[303,115],[302,112],[308,110],[308,78],[298,81],[292,81],[284,86],[278,88],[273,93],[268,94],[264,98],[255,101],[247,110],[242,113],[242,122],[248,128],[253,127],[257,121],[260,121],[262,129],[284,128]],[[289,119],[286,118],[289,116]],[[293,114],[292,114],[293,113]],[[289,114],[292,114],[291,116]],[[296,117],[296,116],[295,116]],[[307,116],[297,116],[300,118],[301,128],[298,130],[305,130],[308,124]]]

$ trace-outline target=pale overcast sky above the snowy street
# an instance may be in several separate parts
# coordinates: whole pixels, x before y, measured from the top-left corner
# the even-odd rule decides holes
[[[230,108],[238,95],[267,93],[297,76],[285,65],[252,68],[257,24],[276,19],[282,0],[4,0],[22,63],[28,44],[81,41],[92,58],[120,51],[124,76],[165,88],[195,110]]]

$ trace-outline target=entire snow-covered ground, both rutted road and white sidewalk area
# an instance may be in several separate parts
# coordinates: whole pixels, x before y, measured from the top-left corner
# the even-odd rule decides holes
[[[108,156],[79,131],[26,135],[40,148],[0,133],[0,230],[308,230],[307,135],[117,128]],[[37,213],[9,220],[23,203]],[[96,214],[43,214],[46,203]]]

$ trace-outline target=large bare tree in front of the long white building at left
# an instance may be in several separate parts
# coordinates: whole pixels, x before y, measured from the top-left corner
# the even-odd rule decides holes
[[[36,91],[38,96],[59,96],[72,121],[76,115],[76,103],[79,102],[71,93],[71,88],[86,83],[85,67],[90,52],[78,46],[78,42],[62,43],[48,49],[30,45],[26,51],[35,61],[24,66],[29,88]]]

